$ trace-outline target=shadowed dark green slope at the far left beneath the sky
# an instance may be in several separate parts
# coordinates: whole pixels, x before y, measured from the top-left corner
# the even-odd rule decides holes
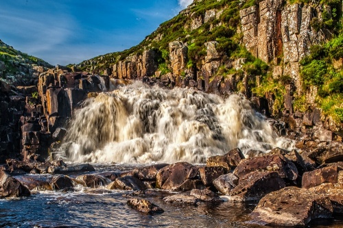
[[[38,72],[52,68],[47,62],[17,51],[0,40],[0,78],[14,86],[33,85]]]

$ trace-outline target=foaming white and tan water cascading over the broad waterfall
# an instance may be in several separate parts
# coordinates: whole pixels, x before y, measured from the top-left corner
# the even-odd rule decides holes
[[[292,149],[249,101],[225,101],[192,89],[165,90],[135,83],[88,99],[75,112],[60,149],[71,162],[203,163],[239,147]]]

